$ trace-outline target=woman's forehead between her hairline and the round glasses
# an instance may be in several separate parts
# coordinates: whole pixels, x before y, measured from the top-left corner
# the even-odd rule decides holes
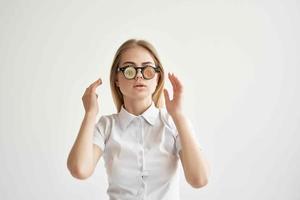
[[[120,64],[128,61],[135,62],[136,64],[141,64],[143,62],[154,63],[151,53],[147,49],[139,46],[126,49],[122,53]]]

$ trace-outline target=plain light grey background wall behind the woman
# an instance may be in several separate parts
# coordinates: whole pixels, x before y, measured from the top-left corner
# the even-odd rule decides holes
[[[84,181],[66,160],[98,77],[100,114],[115,112],[109,69],[132,37],[184,83],[211,165],[201,189],[180,169],[182,199],[300,199],[299,11],[296,0],[1,1],[0,199],[107,199],[102,159]]]

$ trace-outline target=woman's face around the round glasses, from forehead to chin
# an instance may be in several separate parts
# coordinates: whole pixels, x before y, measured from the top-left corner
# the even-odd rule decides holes
[[[143,47],[132,47],[122,53],[119,67],[127,66],[128,64],[135,67],[142,67],[145,64],[155,66],[155,62],[148,50]],[[152,99],[152,94],[155,92],[157,83],[159,80],[159,73],[155,73],[155,76],[146,80],[140,70],[134,79],[128,80],[124,77],[122,72],[117,73],[116,85],[120,88],[123,97],[132,100],[141,100],[146,98]],[[137,86],[144,85],[144,86]]]

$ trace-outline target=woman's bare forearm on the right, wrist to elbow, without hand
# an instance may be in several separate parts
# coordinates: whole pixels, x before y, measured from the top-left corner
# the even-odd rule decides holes
[[[187,181],[196,187],[207,184],[209,167],[200,145],[183,114],[173,116],[181,141],[181,162]]]

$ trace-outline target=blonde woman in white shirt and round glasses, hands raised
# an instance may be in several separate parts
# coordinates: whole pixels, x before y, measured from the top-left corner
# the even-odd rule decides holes
[[[208,164],[182,110],[182,83],[174,74],[168,73],[168,78],[172,99],[164,89],[163,66],[149,42],[130,39],[119,47],[110,72],[118,112],[102,115],[95,125],[101,78],[86,89],[85,116],[67,163],[74,177],[91,176],[103,156],[111,200],[176,200],[180,158],[192,187],[207,184]]]

